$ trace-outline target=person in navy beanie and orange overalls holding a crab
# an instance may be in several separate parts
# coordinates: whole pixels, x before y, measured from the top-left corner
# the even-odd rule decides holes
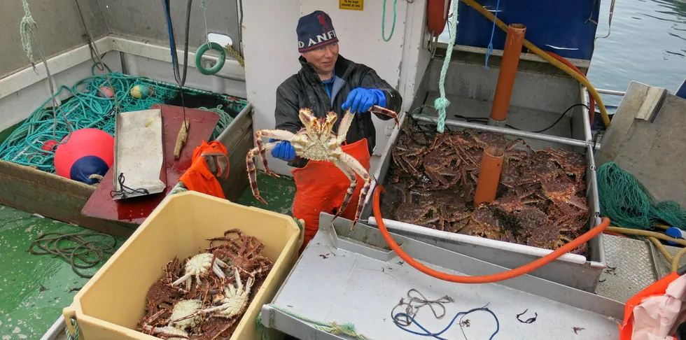
[[[381,79],[376,71],[356,64],[338,54],[338,37],[331,18],[321,10],[300,17],[295,29],[301,69],[276,89],[276,129],[297,132],[304,127],[298,118],[300,108],[311,109],[318,118],[333,111],[338,114],[334,132],[350,110],[356,113],[350,125],[344,153],[355,157],[369,171],[370,155],[376,146],[376,129],[370,108],[378,105],[400,111],[400,93]],[[377,115],[377,114],[375,114]],[[390,119],[377,115],[381,120]],[[293,217],[305,221],[304,246],[314,237],[319,226],[319,213],[335,213],[343,202],[350,185],[348,177],[331,162],[318,162],[295,157],[295,149],[288,141],[280,141],[272,156],[295,167]],[[356,213],[360,190],[364,184],[360,176],[353,197],[342,217],[352,220]]]

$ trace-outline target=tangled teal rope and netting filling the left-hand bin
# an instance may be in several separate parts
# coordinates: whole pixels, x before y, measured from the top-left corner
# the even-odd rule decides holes
[[[93,69],[94,70],[94,69]],[[144,77],[127,76],[123,73],[111,72],[109,78],[116,93],[121,112],[147,110],[154,104],[178,105],[177,95],[181,87],[169,83],[163,83]],[[149,87],[151,95],[136,99],[130,94],[132,87]],[[105,75],[94,75],[78,81],[72,87],[61,86],[54,94],[62,100],[62,104],[53,112],[48,106],[52,97],[44,101],[36,110],[29,115],[17,129],[0,145],[0,160],[6,160],[16,164],[34,167],[49,173],[55,173],[54,151],[43,150],[46,141],[62,141],[69,135],[62,115],[66,115],[66,120],[71,125],[71,130],[96,128],[102,129],[114,136],[114,125],[116,120],[116,101],[114,97],[107,97],[100,90],[101,87],[109,87],[109,82]],[[65,96],[66,95],[66,96]],[[244,99],[230,97],[225,94],[216,94],[197,89],[183,88],[186,107],[199,108],[218,113],[220,119],[211,136],[211,140],[216,139],[221,132],[228,127],[247,102]],[[204,106],[193,106],[193,96],[207,95],[216,97],[216,101],[226,104],[219,104],[216,107],[206,108]],[[188,97],[186,97],[188,96]],[[188,102],[191,102],[190,105]],[[200,101],[198,101],[200,102]]]

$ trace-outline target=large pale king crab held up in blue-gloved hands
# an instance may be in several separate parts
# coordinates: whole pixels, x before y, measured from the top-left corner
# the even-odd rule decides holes
[[[381,106],[372,106],[372,108],[370,108],[370,112],[388,115],[395,119],[395,125],[400,126],[398,114],[388,110],[387,108],[382,108]],[[260,197],[260,192],[257,186],[257,169],[255,168],[253,157],[259,154],[262,158],[262,165],[265,167],[265,172],[268,175],[279,177],[276,175],[276,173],[269,169],[269,164],[267,164],[267,151],[271,151],[279,140],[289,141],[293,148],[295,148],[296,156],[307,158],[309,160],[332,162],[350,179],[350,186],[348,187],[348,191],[343,199],[343,204],[338,209],[338,212],[334,218],[337,218],[343,213],[343,211],[345,211],[353,192],[355,192],[355,187],[357,186],[357,178],[355,173],[360,175],[360,177],[365,181],[365,185],[362,187],[362,190],[360,190],[360,201],[358,202],[355,219],[353,220],[353,225],[351,226],[352,229],[355,227],[355,224],[360,218],[360,213],[362,213],[365,198],[367,197],[367,192],[369,192],[371,185],[371,178],[365,167],[363,167],[358,160],[351,155],[344,153],[341,149],[341,143],[345,141],[345,137],[348,134],[348,129],[355,115],[351,113],[350,110],[346,111],[343,120],[341,121],[341,125],[338,127],[337,134],[332,132],[333,125],[338,119],[338,115],[335,112],[329,112],[325,118],[321,120],[316,118],[316,115],[314,115],[309,108],[301,108],[299,117],[300,121],[304,125],[304,128],[300,129],[300,131],[295,134],[278,129],[264,129],[255,133],[255,144],[257,144],[257,147],[251,149],[246,157],[248,178],[250,180],[250,187],[253,190],[253,196],[262,203],[267,204],[267,201]],[[277,141],[264,144],[262,143],[262,137],[276,139]]]

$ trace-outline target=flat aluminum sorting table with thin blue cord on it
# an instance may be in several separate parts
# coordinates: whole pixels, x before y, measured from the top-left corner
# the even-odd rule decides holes
[[[350,220],[337,218],[332,222],[331,218],[321,214],[319,231],[277,292],[273,305],[326,323],[352,323],[356,332],[370,339],[419,339],[397,327],[391,317],[393,307],[414,288],[427,299],[444,295],[454,299],[444,305],[446,313],[440,320],[428,306],[417,313],[416,320],[431,332],[443,330],[460,311],[487,305],[499,323],[493,339],[618,337],[617,322],[624,315],[620,302],[528,275],[479,285],[441,281],[402,262],[378,229],[358,223],[350,231]],[[475,276],[506,270],[405,236],[393,234],[393,239],[409,255],[439,271]],[[517,314],[525,310],[522,320],[536,313],[535,322],[517,320]],[[398,311],[402,309],[395,313]],[[465,319],[469,320],[469,327],[463,327],[467,339],[489,339],[496,331],[489,313],[479,311]],[[441,337],[464,339],[458,320]],[[297,339],[346,339],[317,330],[269,304],[262,307],[262,323]]]

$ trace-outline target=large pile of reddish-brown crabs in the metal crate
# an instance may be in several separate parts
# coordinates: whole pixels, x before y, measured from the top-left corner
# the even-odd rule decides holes
[[[504,150],[496,200],[473,207],[484,148]],[[589,220],[584,155],[502,134],[408,125],[392,149],[382,213],[393,220],[554,250]],[[586,255],[587,245],[573,250]]]

